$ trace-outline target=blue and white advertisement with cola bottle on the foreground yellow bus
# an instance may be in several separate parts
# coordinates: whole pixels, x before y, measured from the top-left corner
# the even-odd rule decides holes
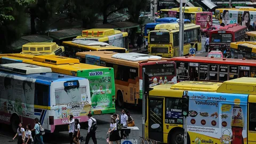
[[[188,91],[188,95],[190,100],[187,127],[191,141],[247,142],[248,95],[196,91]]]

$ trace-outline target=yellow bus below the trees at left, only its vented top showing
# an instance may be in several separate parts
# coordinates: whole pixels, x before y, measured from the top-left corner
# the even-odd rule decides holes
[[[23,54],[31,55],[61,55],[65,54],[64,46],[59,46],[56,43],[27,43],[22,45]]]

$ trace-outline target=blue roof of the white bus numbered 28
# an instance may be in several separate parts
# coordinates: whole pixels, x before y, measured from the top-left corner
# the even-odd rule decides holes
[[[13,76],[21,76],[21,77],[36,79],[39,83],[43,83],[47,85],[50,85],[52,82],[74,81],[74,80],[85,79],[82,77],[61,75],[58,73],[39,73],[39,74],[28,74],[28,75],[15,74],[15,73],[10,73],[8,71],[0,71],[0,73],[7,74],[7,76],[9,77],[12,77],[13,75]]]

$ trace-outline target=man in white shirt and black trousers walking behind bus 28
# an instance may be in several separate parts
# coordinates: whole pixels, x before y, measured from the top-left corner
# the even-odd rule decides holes
[[[87,115],[89,120],[88,120],[88,133],[86,135],[86,138],[85,138],[85,144],[89,144],[89,141],[90,141],[90,138],[92,138],[92,141],[94,144],[97,144],[97,139],[96,139],[96,132],[92,132],[91,131],[91,128],[92,128],[92,122],[96,122],[96,119],[92,117],[92,114],[88,114]],[[91,131],[91,132],[90,132]]]

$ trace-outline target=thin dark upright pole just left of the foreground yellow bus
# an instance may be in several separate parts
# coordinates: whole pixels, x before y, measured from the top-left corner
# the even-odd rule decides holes
[[[145,116],[146,116],[145,71],[146,71],[146,68],[142,68],[142,138],[145,137]]]

